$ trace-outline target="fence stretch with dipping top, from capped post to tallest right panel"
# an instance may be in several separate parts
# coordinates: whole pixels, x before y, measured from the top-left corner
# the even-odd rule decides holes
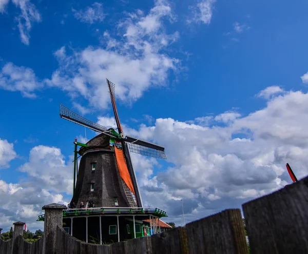
[[[111,245],[86,244],[57,227],[56,253],[248,253],[240,209],[229,209],[200,221]]]

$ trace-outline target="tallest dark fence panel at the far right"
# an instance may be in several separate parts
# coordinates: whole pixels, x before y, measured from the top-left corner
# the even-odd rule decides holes
[[[243,204],[251,253],[308,252],[308,178]]]

